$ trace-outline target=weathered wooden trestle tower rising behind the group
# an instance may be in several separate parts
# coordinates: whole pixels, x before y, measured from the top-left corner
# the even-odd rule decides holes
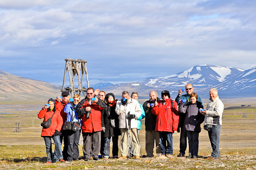
[[[86,68],[86,60],[82,59],[65,59],[65,71],[64,71],[64,78],[63,78],[63,85],[61,92],[69,92],[71,98],[75,96],[75,94],[84,94],[84,97],[86,97],[85,93],[86,89],[89,88],[89,80],[88,80],[88,73]],[[69,76],[69,86],[67,88],[64,88],[65,85],[65,77],[68,72]],[[82,78],[84,78],[84,73],[86,75],[86,82],[87,82],[87,88],[82,87]],[[77,76],[77,79],[75,78]],[[75,83],[75,80],[77,80],[78,84]]]

